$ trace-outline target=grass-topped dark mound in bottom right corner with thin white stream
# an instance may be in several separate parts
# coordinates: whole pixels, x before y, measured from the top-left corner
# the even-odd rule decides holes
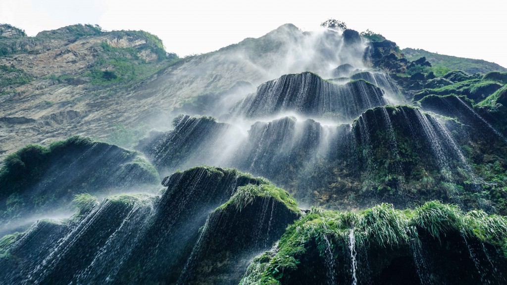
[[[241,284],[501,284],[507,219],[428,202],[358,213],[312,208]]]

